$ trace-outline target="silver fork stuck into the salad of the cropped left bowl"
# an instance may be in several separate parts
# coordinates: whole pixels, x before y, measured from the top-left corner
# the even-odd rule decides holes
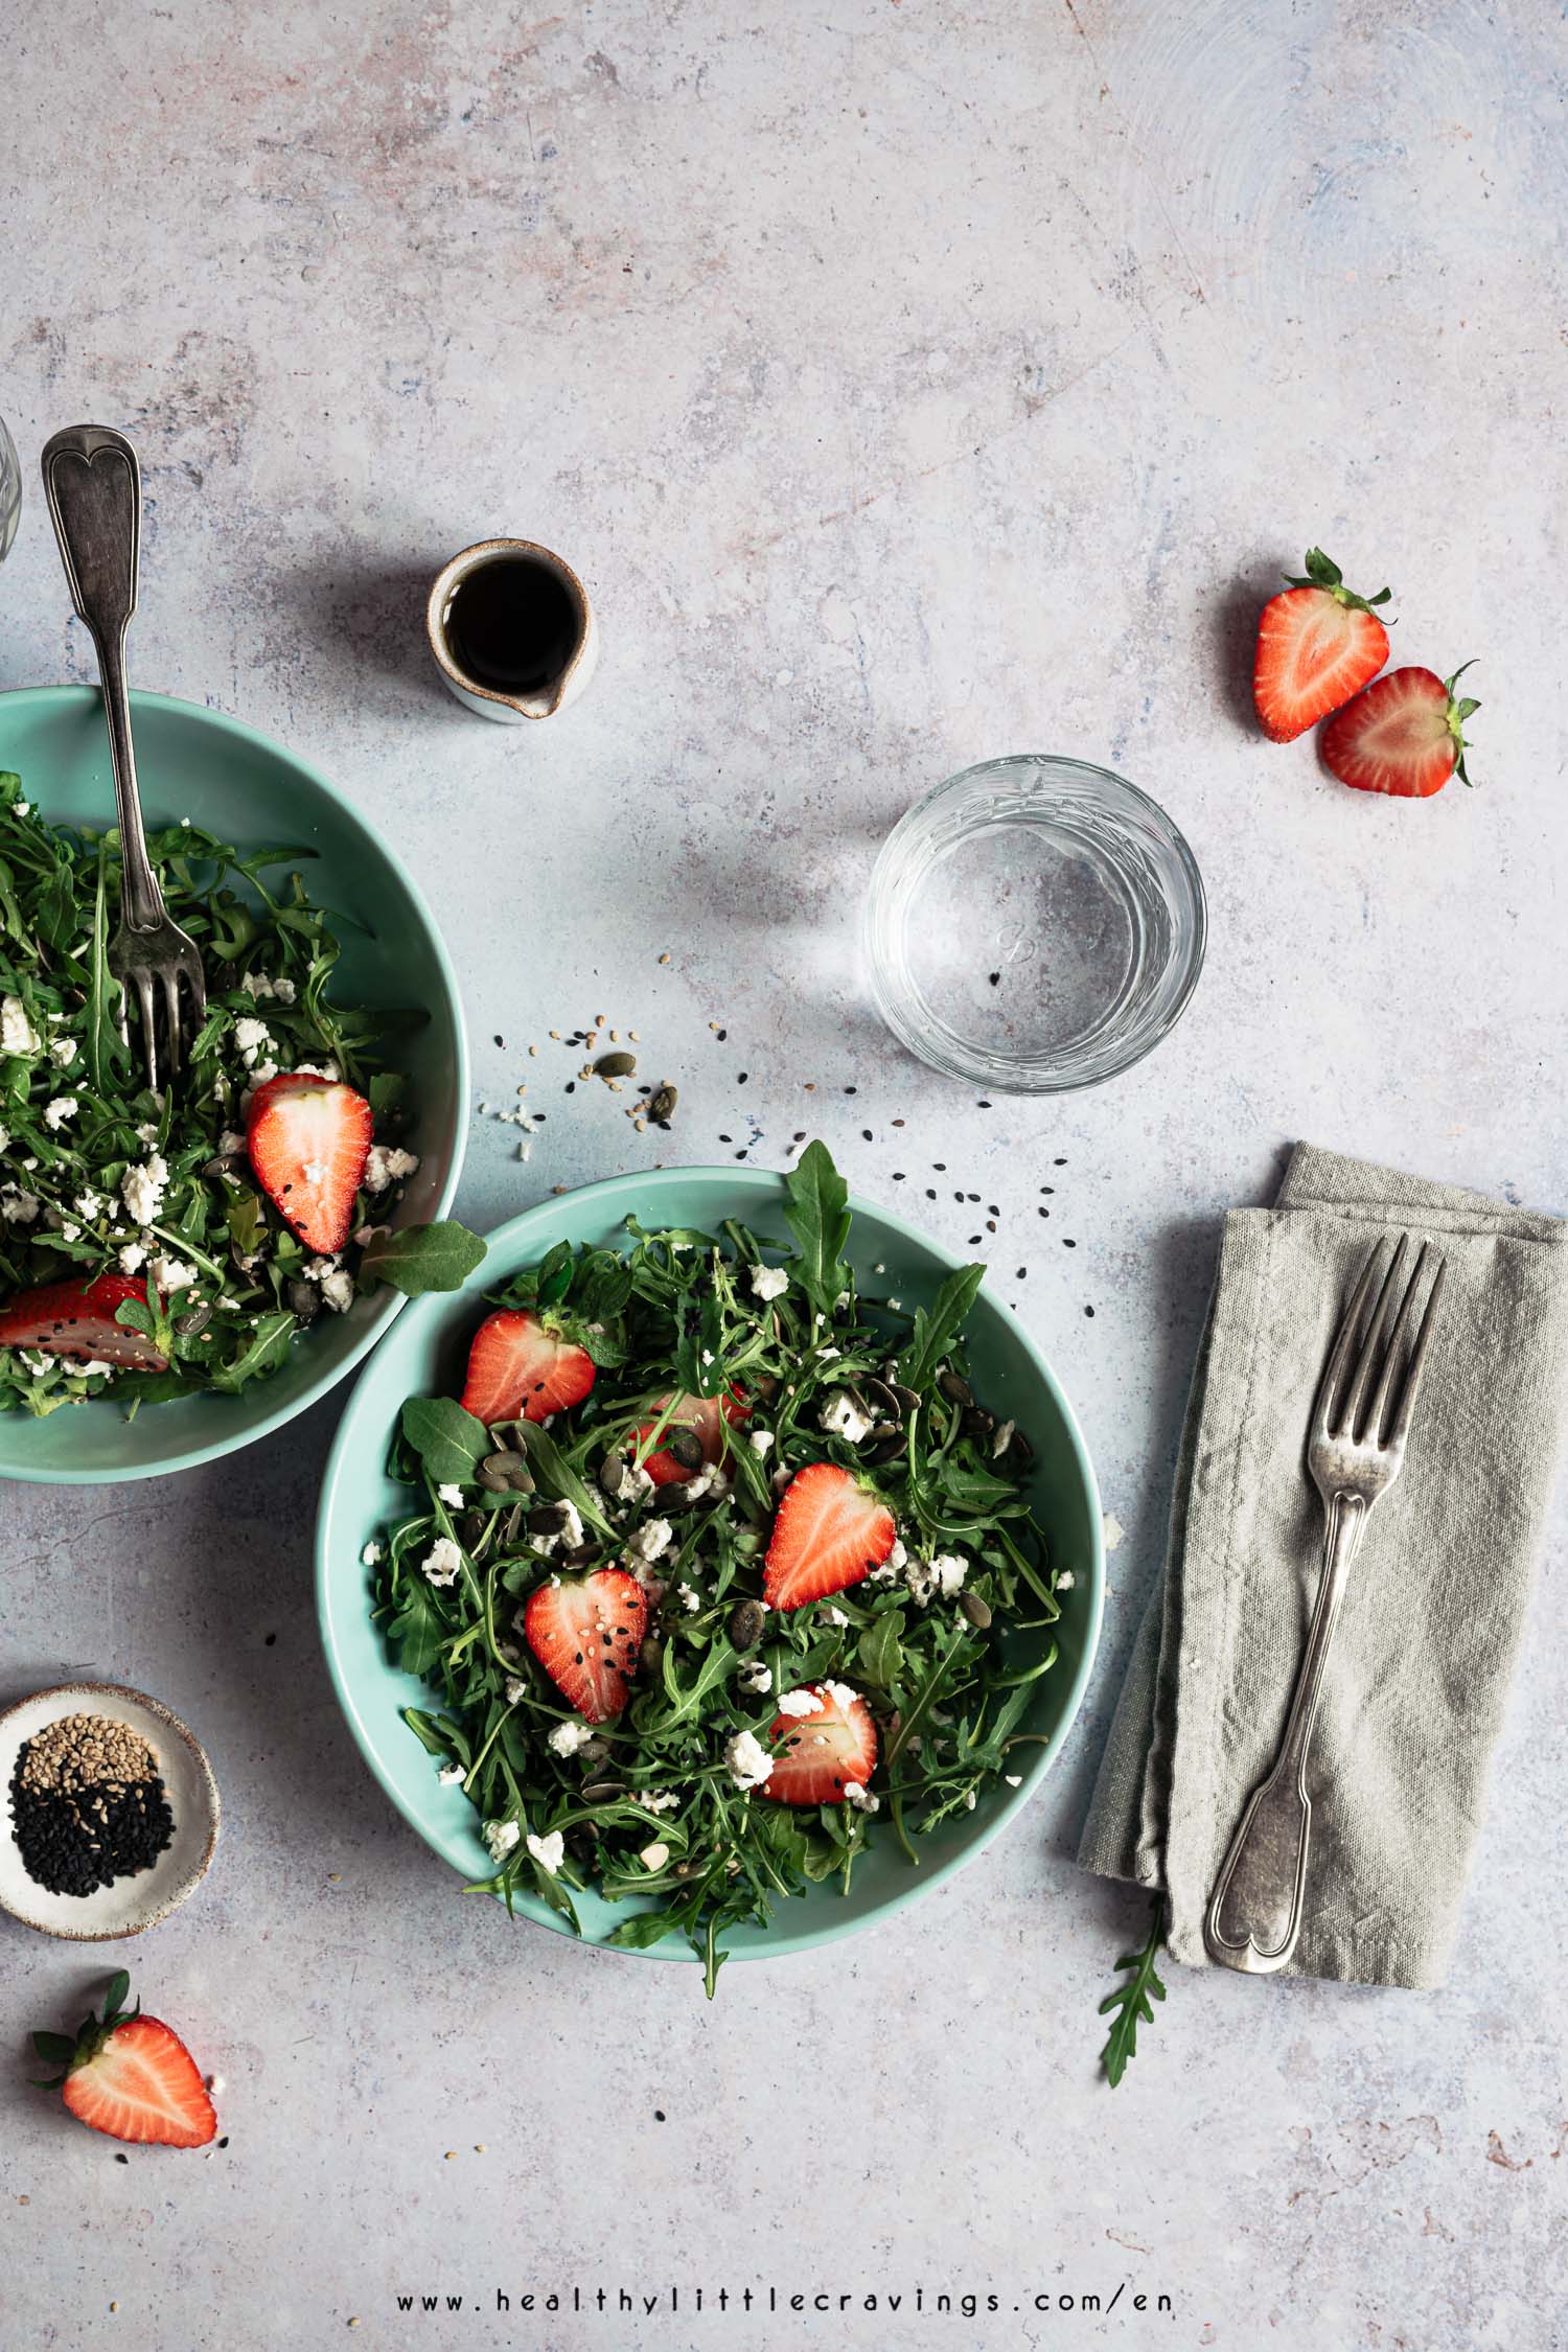
[[[120,929],[108,943],[108,969],[120,981],[120,1037],[129,1047],[132,993],[141,1011],[148,1087],[158,1094],[158,997],[162,993],[165,1063],[181,1065],[181,981],[190,995],[190,1028],[207,1011],[207,981],[195,941],[162,903],[148,863],[132,750],[132,706],[125,689],[125,633],[136,612],[141,555],[141,468],[125,433],[108,426],[66,426],[42,454],[45,499],[71,583],[71,602],[87,623],[103,682],[108,760],[120,809]]]

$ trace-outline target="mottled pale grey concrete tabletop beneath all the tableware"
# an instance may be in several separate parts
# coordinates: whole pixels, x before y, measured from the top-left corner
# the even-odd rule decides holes
[[[172,1486],[9,1489],[5,1686],[92,1668],[212,1745],[219,1867],[134,1959],[223,2074],[230,2143],[120,2166],[12,2086],[89,1971],[0,1931],[7,2352],[350,2319],[440,2352],[1554,2345],[1561,1522],[1446,1992],[1173,1971],[1112,2096],[1093,2009],[1138,1905],[1070,1849],[1220,1209],[1302,1134],[1568,1207],[1559,12],[66,0],[12,9],[0,56],[31,499],[0,684],[87,675],[31,485],[54,426],[120,423],[134,675],[378,818],[458,950],[480,1091],[607,1011],[679,1082],[682,1155],[755,1136],[776,1164],[813,1127],[879,1200],[947,1160],[1001,1202],[1128,1529],[1027,1823],[710,2011],[689,1973],[465,1903],[376,1795],[308,1597],[334,1406]],[[552,541],[599,602],[599,680],[543,729],[465,717],[421,652],[423,583],[489,532]],[[1392,579],[1406,661],[1481,656],[1474,795],[1368,802],[1258,741],[1251,616],[1309,539]],[[879,1035],[856,917],[891,818],[999,750],[1164,800],[1213,943],[1154,1061],[980,1112]],[[651,1141],[562,1098],[520,1167],[480,1122],[461,1207]],[[950,1200],[929,1223],[973,1230]],[[520,2314],[574,2281],[1001,2310]],[[1030,2307],[1119,2286],[1110,2317]],[[487,2317],[400,2319],[418,2288]],[[1175,2314],[1138,2317],[1159,2291]]]

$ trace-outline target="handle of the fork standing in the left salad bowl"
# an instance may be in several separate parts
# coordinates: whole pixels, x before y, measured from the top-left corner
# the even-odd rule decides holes
[[[66,426],[45,442],[45,499],[59,539],[71,602],[99,656],[108,760],[120,811],[122,917],[132,931],[165,920],[158,875],[148,863],[132,750],[132,703],[125,687],[125,633],[136,612],[141,560],[141,466],[125,433]]]

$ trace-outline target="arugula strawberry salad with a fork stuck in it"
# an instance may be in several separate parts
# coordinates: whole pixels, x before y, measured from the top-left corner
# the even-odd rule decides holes
[[[186,823],[148,854],[207,976],[162,1096],[108,974],[118,833],[49,826],[0,774],[0,1411],[233,1395],[374,1282],[454,1289],[482,1256],[461,1225],[390,1230],[418,1162],[383,1047],[411,1016],[329,997],[301,851]]]

